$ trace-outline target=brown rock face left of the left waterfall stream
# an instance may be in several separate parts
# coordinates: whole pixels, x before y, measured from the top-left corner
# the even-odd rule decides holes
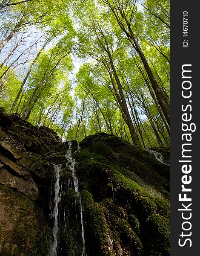
[[[47,140],[49,138],[49,140]],[[45,143],[46,142],[46,143]],[[54,167],[46,153],[62,145],[49,128],[0,113],[0,255],[47,256]]]

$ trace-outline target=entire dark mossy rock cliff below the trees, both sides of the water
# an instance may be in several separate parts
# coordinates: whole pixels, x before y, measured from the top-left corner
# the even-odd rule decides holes
[[[170,255],[169,148],[154,148],[164,164],[110,134],[72,141],[79,193],[68,150],[51,129],[0,113],[0,255],[49,256],[55,166],[58,256],[83,255],[83,227],[85,256]]]

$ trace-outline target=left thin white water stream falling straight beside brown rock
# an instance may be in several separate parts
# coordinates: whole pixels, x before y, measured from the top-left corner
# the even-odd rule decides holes
[[[60,196],[59,196],[59,191],[60,191],[60,185],[59,185],[59,180],[60,180],[60,165],[54,165],[55,169],[55,184],[54,184],[54,212],[53,212],[53,217],[54,217],[54,227],[53,227],[53,237],[54,237],[54,242],[51,247],[51,256],[57,256],[57,232],[58,232],[58,204],[60,201]]]

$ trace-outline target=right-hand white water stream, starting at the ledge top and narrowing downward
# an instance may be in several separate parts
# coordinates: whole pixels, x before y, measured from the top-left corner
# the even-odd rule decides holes
[[[69,169],[71,170],[71,173],[72,173],[72,177],[73,177],[73,181],[74,181],[74,189],[75,191],[77,192],[79,198],[80,198],[80,217],[81,217],[81,227],[82,227],[82,240],[83,240],[83,252],[82,252],[82,256],[87,256],[86,254],[86,245],[85,245],[85,238],[84,238],[84,228],[83,228],[83,209],[82,209],[82,203],[81,203],[81,195],[80,195],[80,192],[79,192],[79,189],[78,189],[78,179],[77,179],[77,176],[76,176],[76,170],[75,170],[75,160],[74,158],[71,156],[71,153],[72,153],[72,142],[69,141],[69,149],[67,151],[67,154],[66,154],[66,159],[69,161]],[[78,143],[78,150],[80,150],[80,145]]]

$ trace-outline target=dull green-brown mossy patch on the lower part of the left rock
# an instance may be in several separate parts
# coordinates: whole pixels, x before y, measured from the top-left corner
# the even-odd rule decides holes
[[[6,215],[6,221],[12,226],[8,234],[2,233],[2,239],[6,243],[1,255],[47,256],[51,229],[43,211],[19,192],[2,186],[0,189],[4,193],[1,202],[6,205],[8,212],[11,212],[10,215]],[[6,239],[3,236],[6,236]]]

